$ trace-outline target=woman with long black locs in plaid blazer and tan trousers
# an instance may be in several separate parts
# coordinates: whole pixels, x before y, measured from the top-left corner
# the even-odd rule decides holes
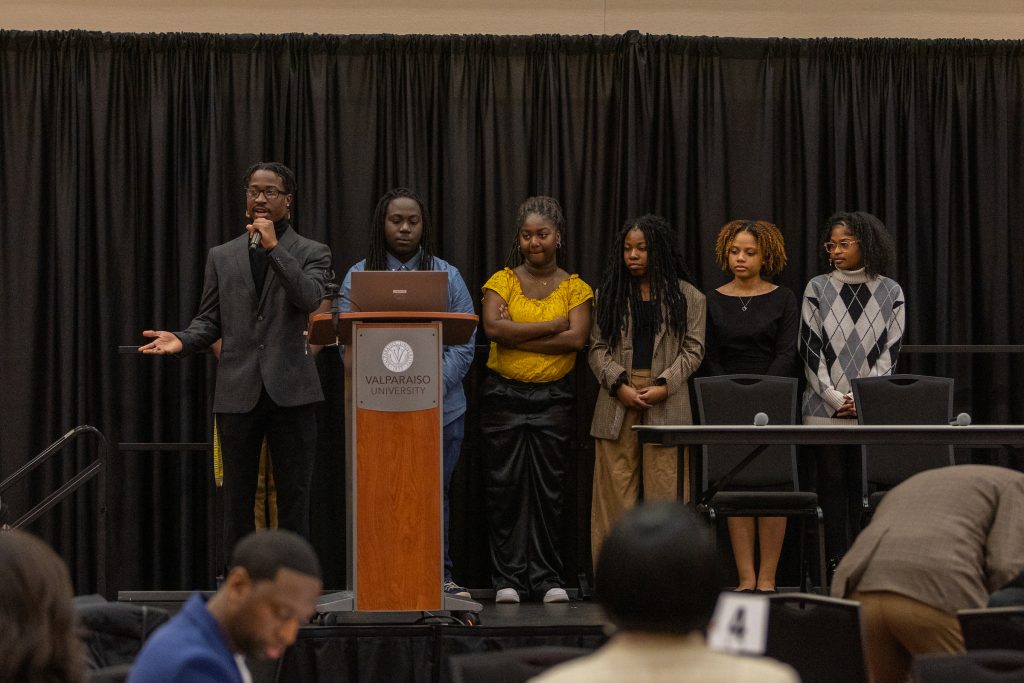
[[[687,380],[700,366],[703,344],[705,296],[690,282],[668,221],[628,220],[612,242],[597,293],[588,356],[600,384],[590,428],[595,563],[611,525],[640,498],[641,481],[646,501],[678,496],[679,450],[641,446],[632,427],[692,424]]]

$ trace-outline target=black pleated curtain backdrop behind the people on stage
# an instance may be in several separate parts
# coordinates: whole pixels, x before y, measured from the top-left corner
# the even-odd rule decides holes
[[[654,212],[705,289],[725,281],[713,257],[724,222],[776,222],[790,251],[779,282],[799,294],[823,267],[822,222],[862,209],[896,238],[907,343],[1022,343],[1022,110],[1021,42],[0,32],[0,473],[82,423],[115,441],[209,440],[212,359],[117,347],[187,325],[207,251],[243,229],[242,173],[257,160],[295,169],[297,229],[330,244],[339,276],[399,184],[426,199],[440,254],[473,291],[534,194],[562,201],[568,266],[595,286],[610,236]],[[900,370],[955,377],[976,422],[1021,422],[1019,357],[904,356]],[[314,541],[340,567],[341,370],[318,364]],[[570,580],[589,562],[593,380],[579,375]],[[476,447],[470,425],[454,552],[456,578],[484,586]],[[11,507],[94,454],[71,449]],[[110,477],[113,587],[211,586],[204,455],[123,453]],[[90,485],[34,526],[79,592],[94,583],[94,506]]]

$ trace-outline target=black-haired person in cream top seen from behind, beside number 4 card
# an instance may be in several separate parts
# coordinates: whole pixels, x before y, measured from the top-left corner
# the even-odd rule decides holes
[[[597,597],[617,629],[592,655],[555,667],[539,683],[700,681],[795,683],[764,657],[708,649],[722,571],[707,523],[680,503],[626,512],[597,560]]]

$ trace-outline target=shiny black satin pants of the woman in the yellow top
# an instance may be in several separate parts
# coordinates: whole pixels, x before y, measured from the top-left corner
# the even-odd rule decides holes
[[[480,411],[495,588],[541,597],[561,587],[562,484],[574,407],[566,378],[529,384],[490,374]]]

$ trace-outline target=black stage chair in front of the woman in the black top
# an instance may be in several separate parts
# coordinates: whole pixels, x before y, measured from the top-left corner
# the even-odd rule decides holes
[[[764,413],[769,424],[792,425],[797,419],[797,380],[764,375],[723,375],[694,380],[701,424],[751,425]],[[801,585],[808,590],[804,569],[805,521],[812,518],[818,538],[818,571],[822,592],[828,592],[825,541],[818,496],[800,490],[795,445],[773,445],[728,477],[752,452],[750,445],[706,445],[701,467],[702,488],[713,490],[697,509],[713,523],[719,517],[799,517]],[[714,482],[713,488],[710,482]],[[740,490],[724,490],[739,488]],[[743,490],[745,488],[745,490]]]

